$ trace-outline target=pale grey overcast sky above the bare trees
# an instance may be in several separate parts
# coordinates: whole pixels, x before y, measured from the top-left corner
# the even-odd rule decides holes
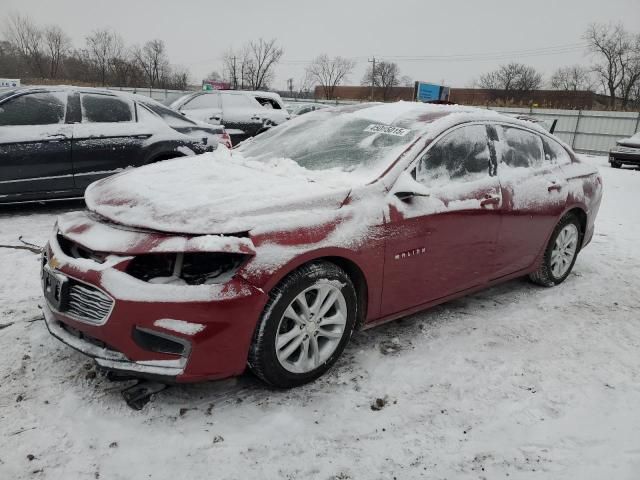
[[[60,25],[76,47],[105,27],[129,45],[163,39],[193,83],[222,70],[229,47],[275,37],[285,50],[279,89],[290,77],[297,84],[305,62],[321,53],[358,62],[349,84],[360,83],[374,55],[396,61],[402,75],[454,87],[509,60],[548,76],[562,65],[589,64],[581,36],[591,22],[640,32],[640,0],[2,0],[0,19],[7,12]]]

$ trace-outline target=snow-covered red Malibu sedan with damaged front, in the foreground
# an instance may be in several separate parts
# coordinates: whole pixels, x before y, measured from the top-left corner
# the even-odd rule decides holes
[[[530,122],[326,109],[91,185],[45,248],[44,317],[107,369],[192,382],[248,365],[292,387],[356,329],[515,277],[563,282],[601,195],[597,169]]]

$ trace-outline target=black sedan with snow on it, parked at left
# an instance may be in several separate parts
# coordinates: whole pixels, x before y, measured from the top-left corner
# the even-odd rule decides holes
[[[74,87],[0,93],[0,203],[80,197],[123,168],[204,153],[222,127],[138,95]],[[225,140],[226,139],[226,140]]]

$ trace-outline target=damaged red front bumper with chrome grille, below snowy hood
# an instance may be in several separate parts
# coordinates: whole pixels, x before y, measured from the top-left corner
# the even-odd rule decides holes
[[[134,237],[74,215],[54,230],[43,256],[43,311],[51,335],[126,376],[194,382],[244,371],[268,299],[262,290],[235,276],[221,284],[167,285],[127,270],[151,250],[219,251],[221,239],[153,232]],[[65,242],[78,247],[63,248]],[[119,242],[129,250],[107,250]]]

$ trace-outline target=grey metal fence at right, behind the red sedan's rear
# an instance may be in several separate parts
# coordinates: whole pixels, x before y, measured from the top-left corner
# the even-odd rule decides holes
[[[640,112],[489,108],[502,113],[526,114],[547,122],[557,119],[554,134],[577,152],[584,153],[606,154],[617,139],[630,137],[640,129]]]

